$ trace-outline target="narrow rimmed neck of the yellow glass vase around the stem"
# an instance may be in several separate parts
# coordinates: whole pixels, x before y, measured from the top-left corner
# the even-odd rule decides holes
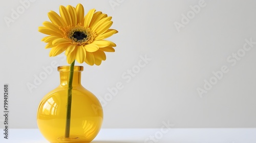
[[[73,75],[73,86],[81,85],[81,71],[83,70],[82,66],[74,66],[74,75]],[[60,86],[68,86],[69,76],[70,76],[70,66],[59,66],[58,67],[60,75]]]

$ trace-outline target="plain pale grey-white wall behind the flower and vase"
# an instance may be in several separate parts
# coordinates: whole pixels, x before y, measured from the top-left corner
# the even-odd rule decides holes
[[[13,11],[24,7],[20,1],[3,1],[0,6],[0,85],[2,90],[5,83],[10,86],[10,128],[37,128],[38,104],[59,84],[57,68],[37,88],[30,91],[27,84],[34,84],[52,62],[67,65],[63,56],[48,56],[50,50],[40,41],[46,35],[37,30],[49,21],[50,10],[58,13],[60,5],[78,3],[86,12],[96,8],[113,16],[112,28],[119,31],[109,38],[117,47],[106,54],[106,61],[100,66],[80,64],[82,85],[99,99],[105,99],[108,88],[118,82],[123,85],[103,107],[102,128],[161,128],[163,122],[174,128],[256,127],[256,44],[243,50],[245,39],[256,42],[256,1],[28,2],[15,19]],[[190,6],[199,2],[203,7],[195,13]],[[5,17],[13,22],[7,23]],[[177,22],[183,26],[177,29]],[[241,57],[234,64],[229,56],[238,51]],[[151,60],[138,70],[141,56]],[[217,79],[212,72],[223,66],[228,72],[200,96],[197,89],[204,89],[205,80]],[[122,76],[133,69],[131,81]],[[0,123],[3,128],[3,115]]]

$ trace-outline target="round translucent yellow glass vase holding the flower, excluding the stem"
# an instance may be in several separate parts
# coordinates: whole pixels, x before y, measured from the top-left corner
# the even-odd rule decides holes
[[[99,100],[81,85],[82,66],[74,66],[70,134],[67,137],[67,102],[70,66],[59,66],[60,85],[49,92],[37,110],[37,125],[50,142],[91,142],[100,131],[103,111]]]

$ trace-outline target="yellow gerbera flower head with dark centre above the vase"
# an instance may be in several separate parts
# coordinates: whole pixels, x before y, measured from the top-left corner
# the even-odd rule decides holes
[[[74,60],[89,65],[100,65],[106,59],[104,52],[115,52],[116,44],[104,40],[118,31],[110,29],[113,24],[112,17],[92,9],[84,16],[81,4],[73,6],[60,6],[58,15],[54,11],[48,13],[51,22],[45,21],[38,31],[49,36],[42,41],[51,48],[49,56],[57,56],[65,52],[67,62]]]

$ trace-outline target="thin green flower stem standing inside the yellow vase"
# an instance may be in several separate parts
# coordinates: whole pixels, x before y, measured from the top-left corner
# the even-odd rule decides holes
[[[75,61],[70,64],[70,74],[69,74],[69,89],[68,89],[68,103],[67,103],[67,121],[66,121],[66,130],[65,137],[70,137],[70,121],[71,121],[71,104],[72,104],[72,83],[74,75],[74,65]]]

